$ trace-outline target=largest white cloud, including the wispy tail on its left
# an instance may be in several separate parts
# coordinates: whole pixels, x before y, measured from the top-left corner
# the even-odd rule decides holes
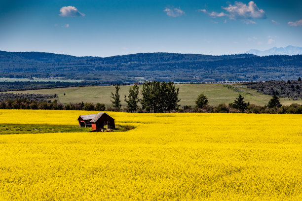
[[[259,9],[254,1],[250,1],[248,4],[243,2],[235,2],[233,5],[229,4],[227,7],[223,7],[226,12],[208,12],[206,9],[199,9],[210,17],[224,17],[227,16],[231,20],[241,19],[245,24],[256,24],[251,19],[265,19],[266,15],[263,9]]]

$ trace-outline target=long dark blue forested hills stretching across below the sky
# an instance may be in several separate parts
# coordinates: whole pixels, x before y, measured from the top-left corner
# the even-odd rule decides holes
[[[0,77],[66,77],[102,83],[161,80],[178,82],[297,79],[302,55],[266,56],[139,53],[75,57],[40,52],[0,51]]]

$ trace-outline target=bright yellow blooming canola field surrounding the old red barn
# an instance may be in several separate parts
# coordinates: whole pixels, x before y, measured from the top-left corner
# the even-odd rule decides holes
[[[0,122],[91,113],[0,110]],[[0,201],[302,200],[302,115],[108,113],[136,129],[0,135]]]

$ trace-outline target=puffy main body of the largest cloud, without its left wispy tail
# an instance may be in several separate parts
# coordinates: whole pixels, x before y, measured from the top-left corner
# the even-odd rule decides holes
[[[235,2],[234,5],[229,4],[228,7],[223,7],[229,14],[229,19],[264,19],[266,18],[263,9],[259,9],[254,1],[248,4],[243,2]]]

